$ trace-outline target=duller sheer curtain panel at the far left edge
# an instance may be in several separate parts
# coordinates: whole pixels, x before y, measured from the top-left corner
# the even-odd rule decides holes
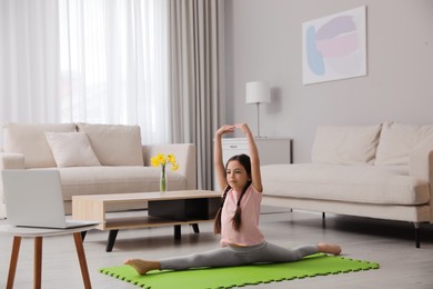
[[[57,10],[57,0],[0,1],[1,122],[59,120]]]

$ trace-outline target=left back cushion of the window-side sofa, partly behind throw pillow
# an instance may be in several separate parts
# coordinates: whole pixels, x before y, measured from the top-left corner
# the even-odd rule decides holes
[[[73,132],[75,124],[6,123],[3,124],[3,150],[23,153],[26,168],[56,167],[46,131]]]

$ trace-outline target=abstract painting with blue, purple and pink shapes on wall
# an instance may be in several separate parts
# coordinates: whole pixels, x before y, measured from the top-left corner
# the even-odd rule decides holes
[[[303,84],[366,76],[366,7],[302,23]]]

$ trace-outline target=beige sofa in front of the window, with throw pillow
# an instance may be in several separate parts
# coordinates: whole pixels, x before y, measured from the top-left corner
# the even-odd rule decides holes
[[[0,169],[58,169],[66,212],[71,213],[72,196],[159,191],[161,169],[150,165],[159,152],[173,153],[179,163],[177,171],[168,167],[169,190],[197,188],[194,144],[141,144],[138,126],[7,123]],[[1,186],[2,181],[0,217],[4,218]]]

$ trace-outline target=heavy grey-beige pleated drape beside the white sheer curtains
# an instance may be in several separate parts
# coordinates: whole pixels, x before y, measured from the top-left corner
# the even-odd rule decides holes
[[[171,133],[197,148],[198,188],[213,188],[213,137],[223,122],[224,1],[170,1]]]

